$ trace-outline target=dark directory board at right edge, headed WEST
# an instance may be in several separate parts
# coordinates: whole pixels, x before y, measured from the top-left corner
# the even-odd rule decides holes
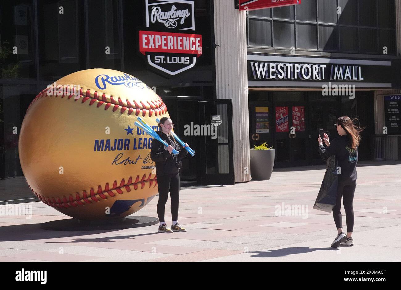
[[[384,96],[385,126],[387,134],[401,134],[401,95]]]

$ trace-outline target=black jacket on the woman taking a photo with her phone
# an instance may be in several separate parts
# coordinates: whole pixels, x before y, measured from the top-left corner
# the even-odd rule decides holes
[[[351,149],[348,144],[348,136],[334,138],[330,146],[319,146],[319,153],[323,160],[327,160],[331,155],[335,155],[338,165],[341,168],[339,181],[353,182],[358,178],[356,173],[356,163],[358,162],[358,148]]]

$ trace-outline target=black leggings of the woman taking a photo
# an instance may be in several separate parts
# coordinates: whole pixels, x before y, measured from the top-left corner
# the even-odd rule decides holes
[[[352,232],[354,228],[354,208],[352,202],[354,200],[356,181],[350,183],[344,183],[340,180],[337,186],[337,203],[333,208],[334,222],[336,223],[337,229],[342,228],[342,215],[341,209],[341,196],[344,198],[344,210],[347,222],[347,232]]]

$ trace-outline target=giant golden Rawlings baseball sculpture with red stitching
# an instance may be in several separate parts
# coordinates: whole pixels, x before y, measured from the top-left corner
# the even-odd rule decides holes
[[[158,130],[156,118],[169,115],[162,99],[129,74],[82,70],[48,86],[20,132],[32,192],[80,220],[123,218],[143,208],[158,189],[152,138],[134,126],[137,116]]]

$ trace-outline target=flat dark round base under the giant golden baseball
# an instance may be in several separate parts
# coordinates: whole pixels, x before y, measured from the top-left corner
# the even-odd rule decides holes
[[[127,216],[114,220],[77,220],[76,218],[68,218],[66,220],[45,222],[41,224],[41,229],[61,231],[119,230],[152,226],[158,222],[158,218],[151,216]]]

